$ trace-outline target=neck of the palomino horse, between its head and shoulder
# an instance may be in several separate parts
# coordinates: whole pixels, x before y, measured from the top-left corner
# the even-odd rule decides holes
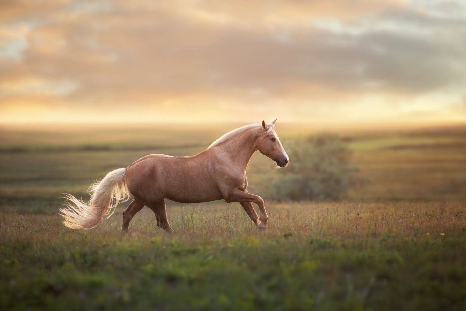
[[[228,154],[228,158],[233,163],[239,165],[241,168],[244,166],[244,170],[246,170],[249,160],[254,152],[257,151],[256,137],[257,133],[254,129],[247,130],[228,139],[225,143],[219,145],[219,147]]]

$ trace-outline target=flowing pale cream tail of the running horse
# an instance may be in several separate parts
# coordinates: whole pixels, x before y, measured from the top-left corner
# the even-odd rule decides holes
[[[118,168],[93,184],[88,190],[91,194],[89,202],[65,194],[67,202],[60,208],[63,224],[71,229],[90,229],[96,227],[106,215],[109,218],[118,203],[130,198],[125,175],[126,168]]]

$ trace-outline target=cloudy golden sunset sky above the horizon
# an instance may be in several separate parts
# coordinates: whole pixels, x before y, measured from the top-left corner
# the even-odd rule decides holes
[[[275,117],[466,122],[466,1],[0,1],[0,124]]]

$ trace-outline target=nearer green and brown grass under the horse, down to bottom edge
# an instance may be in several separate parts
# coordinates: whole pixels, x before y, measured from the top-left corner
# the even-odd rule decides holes
[[[461,310],[462,203],[268,205],[260,233],[239,204],[149,210],[89,231],[56,215],[0,217],[0,308]],[[121,210],[120,210],[121,211]]]

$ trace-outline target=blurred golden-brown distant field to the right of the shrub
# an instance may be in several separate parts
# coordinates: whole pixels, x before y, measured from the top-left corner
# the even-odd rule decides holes
[[[466,198],[466,128],[387,131],[373,138],[360,135],[349,142],[362,182],[350,190],[350,198]]]

